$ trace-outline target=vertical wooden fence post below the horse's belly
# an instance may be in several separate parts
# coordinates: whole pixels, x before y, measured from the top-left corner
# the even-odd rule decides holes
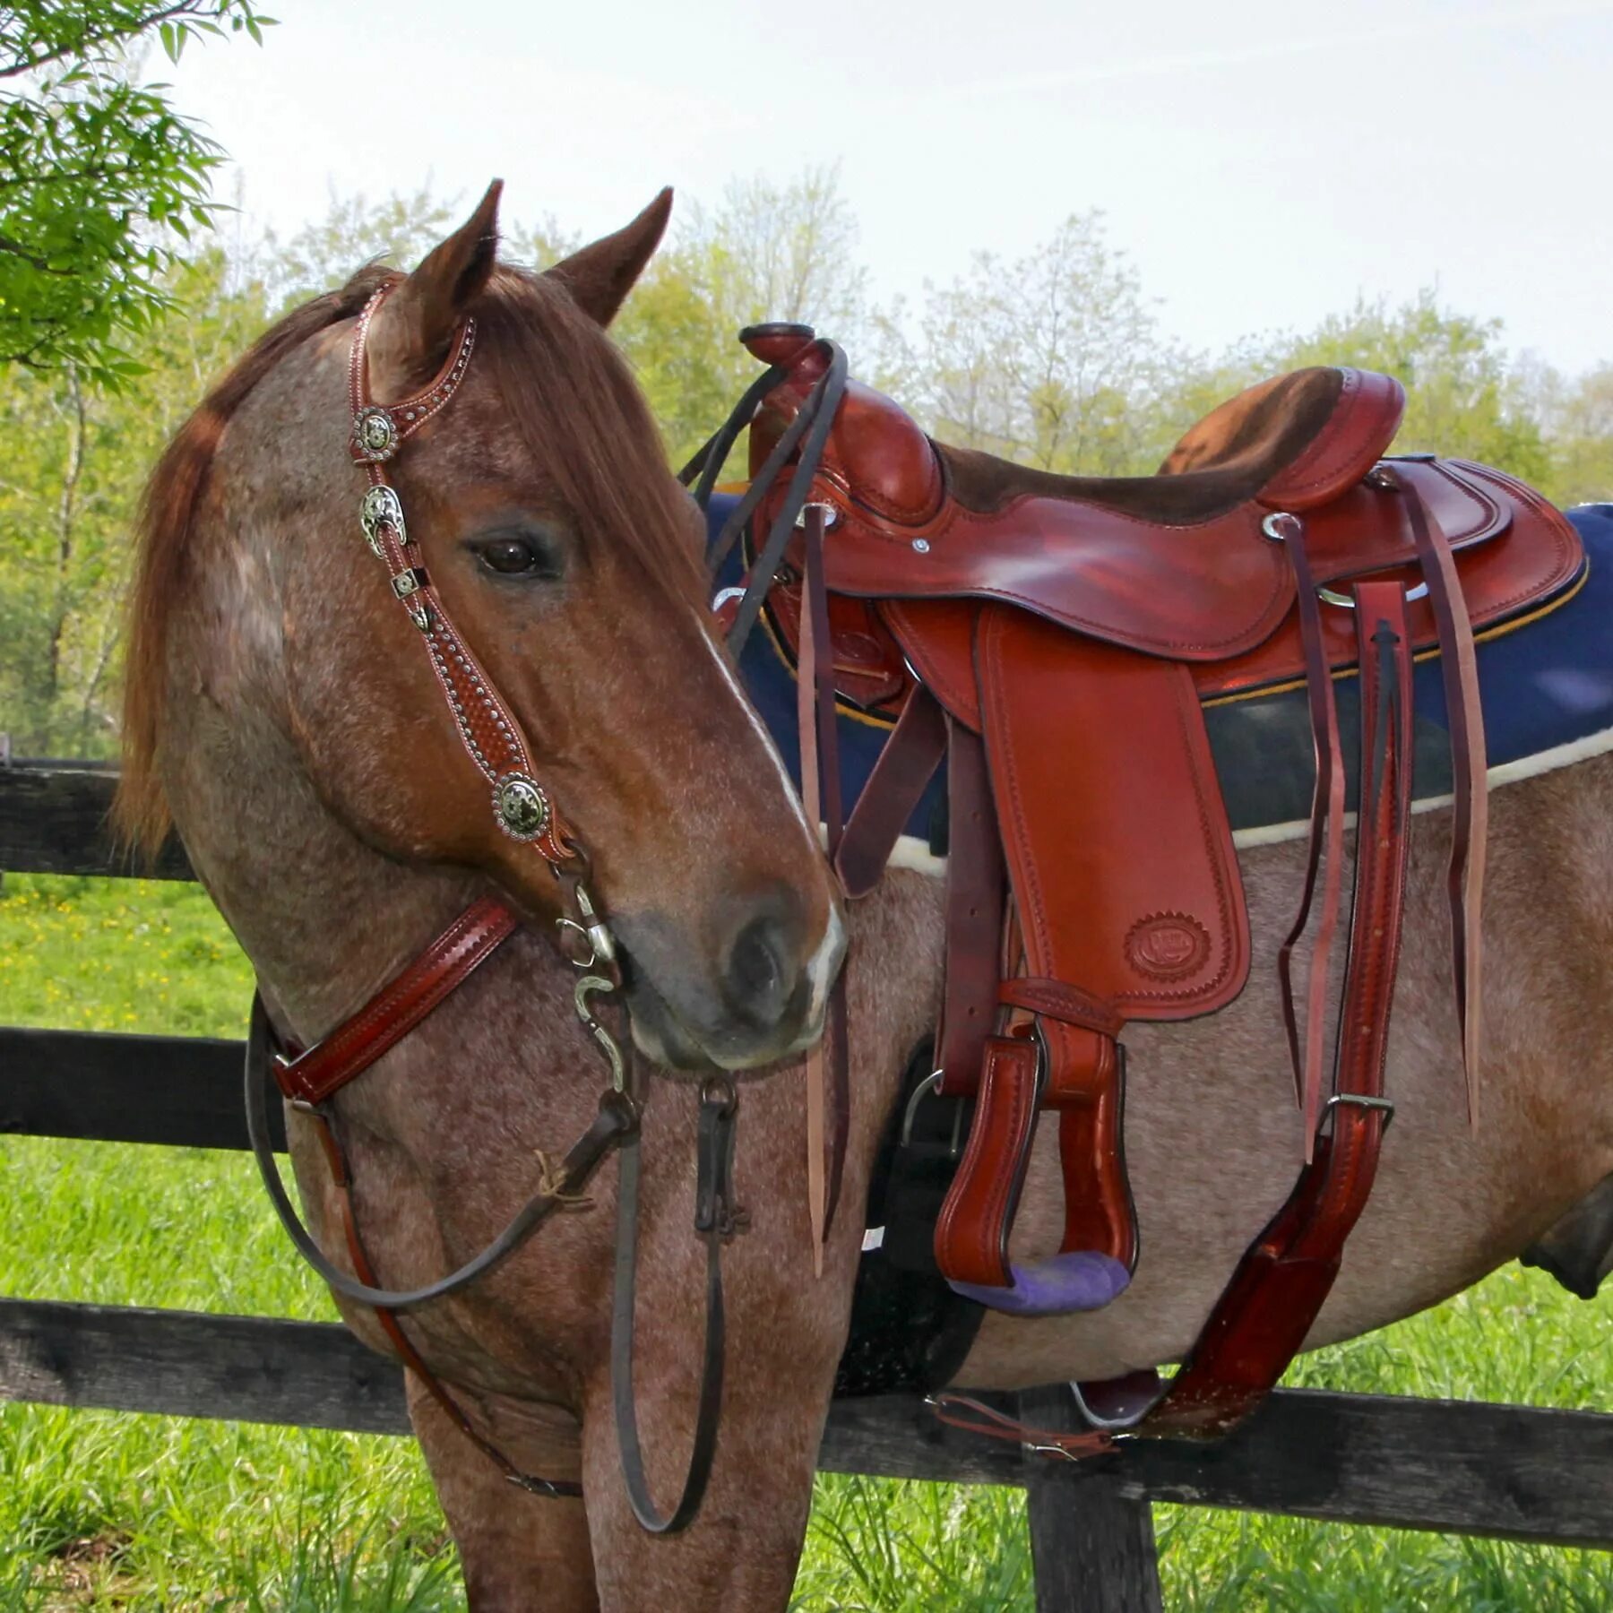
[[[1019,1395],[1019,1416],[1039,1428],[1074,1428],[1061,1384]],[[1074,1461],[1026,1457],[1031,1560],[1037,1613],[1163,1613],[1153,1508],[1129,1500],[1119,1481]]]

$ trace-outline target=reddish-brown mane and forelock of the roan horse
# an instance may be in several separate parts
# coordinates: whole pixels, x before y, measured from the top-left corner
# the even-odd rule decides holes
[[[140,502],[127,606],[123,774],[113,802],[118,840],[155,855],[173,827],[156,771],[166,698],[168,627],[197,560],[192,526],[213,455],[253,387],[294,348],[355,318],[395,269],[369,265],[340,290],[271,326],[179,427]],[[626,536],[642,565],[673,587],[698,589],[698,548],[660,434],[626,361],[553,279],[500,265],[471,306],[477,360],[506,416],[539,455],[568,508]],[[334,444],[332,452],[342,452]]]

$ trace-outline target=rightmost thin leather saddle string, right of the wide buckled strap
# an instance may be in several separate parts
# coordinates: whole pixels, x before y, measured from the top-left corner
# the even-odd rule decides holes
[[[1394,476],[1405,497],[1407,519],[1423,563],[1434,624],[1439,629],[1439,665],[1445,684],[1450,724],[1450,944],[1457,979],[1457,1016],[1461,1023],[1461,1063],[1468,1086],[1468,1124],[1479,1119],[1479,1037],[1484,1013],[1484,858],[1489,840],[1489,781],[1484,747],[1484,710],[1479,700],[1479,661],[1473,647],[1473,621],[1450,542],[1416,489]]]

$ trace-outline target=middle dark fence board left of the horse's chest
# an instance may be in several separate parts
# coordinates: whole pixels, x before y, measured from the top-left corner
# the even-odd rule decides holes
[[[0,1132],[245,1148],[240,1042],[0,1026]],[[269,1105],[286,1147],[281,1105]]]

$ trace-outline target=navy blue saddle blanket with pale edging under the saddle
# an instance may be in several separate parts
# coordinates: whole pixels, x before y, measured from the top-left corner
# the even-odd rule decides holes
[[[713,537],[736,503],[739,498],[732,495],[711,498],[708,526]],[[1586,542],[1587,576],[1579,592],[1539,619],[1502,624],[1478,647],[1492,784],[1613,750],[1613,503],[1579,505],[1568,518]],[[739,582],[739,568],[736,556],[719,586]],[[750,636],[739,671],[800,787],[795,673],[771,631]],[[1345,677],[1336,689],[1344,753],[1353,773],[1357,682]],[[1437,660],[1418,663],[1415,710],[1416,798],[1437,803],[1452,787],[1445,686]],[[1205,727],[1239,842],[1303,834],[1315,777],[1305,690],[1211,702],[1205,705]],[[840,787],[847,811],[861,794],[887,734],[887,724],[842,710]],[[1352,777],[1352,806],[1353,784]],[[910,819],[908,834],[945,855],[940,776]]]

